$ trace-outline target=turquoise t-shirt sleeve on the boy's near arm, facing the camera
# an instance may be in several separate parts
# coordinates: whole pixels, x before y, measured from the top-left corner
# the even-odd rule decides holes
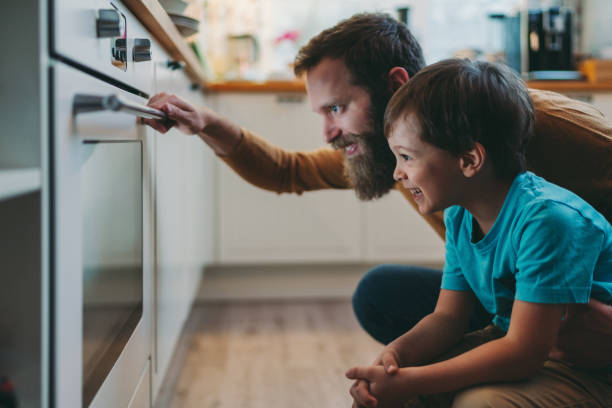
[[[577,210],[558,202],[534,204],[517,228],[518,300],[587,303],[604,233]]]

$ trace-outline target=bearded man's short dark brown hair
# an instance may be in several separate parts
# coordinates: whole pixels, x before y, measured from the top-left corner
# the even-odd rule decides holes
[[[295,74],[308,72],[323,58],[344,61],[352,82],[365,87],[375,103],[384,102],[381,117],[391,96],[391,68],[403,67],[412,76],[425,66],[421,46],[408,27],[383,13],[355,14],[313,37],[295,57]]]

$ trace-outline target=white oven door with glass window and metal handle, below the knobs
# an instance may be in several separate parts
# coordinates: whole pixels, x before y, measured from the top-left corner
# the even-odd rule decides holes
[[[59,63],[51,76],[55,406],[126,407],[151,354],[153,138],[75,97],[146,100]]]

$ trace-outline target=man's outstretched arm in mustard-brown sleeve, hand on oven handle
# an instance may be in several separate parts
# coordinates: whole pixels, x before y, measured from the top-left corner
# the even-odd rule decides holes
[[[195,108],[174,95],[157,94],[151,98],[149,106],[166,112],[171,122],[146,119],[146,124],[161,133],[174,126],[183,133],[197,134],[238,175],[257,187],[298,194],[351,187],[344,175],[344,158],[340,151],[281,149],[210,109]]]

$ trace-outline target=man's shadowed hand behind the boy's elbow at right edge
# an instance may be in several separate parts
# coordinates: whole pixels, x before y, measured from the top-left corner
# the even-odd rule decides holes
[[[584,368],[612,365],[612,306],[570,305],[549,357]]]

